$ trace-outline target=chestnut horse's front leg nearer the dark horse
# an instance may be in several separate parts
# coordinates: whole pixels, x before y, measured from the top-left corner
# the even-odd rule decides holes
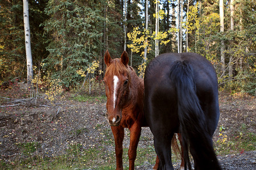
[[[129,156],[129,170],[134,169],[134,162],[137,156],[137,147],[139,143],[139,137],[141,137],[141,126],[134,124],[130,130],[130,147],[128,151]]]

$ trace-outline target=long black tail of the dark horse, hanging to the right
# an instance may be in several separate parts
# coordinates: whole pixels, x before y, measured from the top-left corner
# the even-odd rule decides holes
[[[191,169],[189,149],[197,169],[221,169],[213,150],[212,136],[207,131],[204,112],[196,95],[192,67],[187,61],[176,61],[170,75],[177,94],[185,169],[187,164]]]

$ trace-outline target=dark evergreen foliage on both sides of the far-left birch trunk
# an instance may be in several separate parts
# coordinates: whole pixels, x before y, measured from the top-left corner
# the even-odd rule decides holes
[[[29,1],[31,50],[34,65],[46,58],[43,27],[46,0]],[[0,1],[0,81],[27,77],[22,1]]]

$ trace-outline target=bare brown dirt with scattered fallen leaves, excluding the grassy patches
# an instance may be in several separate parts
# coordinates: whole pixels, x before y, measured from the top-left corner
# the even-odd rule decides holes
[[[71,143],[82,143],[85,149],[97,145],[104,140],[102,129],[111,133],[105,119],[105,101],[95,99],[88,103],[65,100],[55,106],[42,101],[36,106],[13,107],[6,105],[12,105],[14,99],[2,97],[0,101],[0,160],[6,163],[23,156],[20,143],[38,142],[40,148],[37,148],[35,154],[51,157],[65,154]],[[249,95],[220,94],[221,116],[213,141],[217,141],[221,126],[228,136],[240,130],[242,125],[255,135],[255,101],[255,97]],[[138,147],[153,146],[149,128],[143,128],[142,137],[148,140],[140,141]],[[129,146],[129,138],[125,138],[123,145]],[[251,145],[255,148],[255,143]],[[114,146],[109,146],[108,149],[114,152]],[[256,169],[255,149],[218,156],[218,159],[223,169]],[[178,164],[174,163],[176,169]],[[151,164],[145,164],[136,169],[152,169],[151,167]]]

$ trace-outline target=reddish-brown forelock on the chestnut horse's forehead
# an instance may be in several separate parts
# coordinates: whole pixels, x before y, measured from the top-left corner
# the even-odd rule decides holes
[[[114,75],[120,75],[123,73],[129,74],[128,67],[123,65],[123,63],[121,62],[121,59],[115,58],[115,59],[112,59],[112,61],[110,61],[110,65],[106,68],[105,75],[114,76]]]

